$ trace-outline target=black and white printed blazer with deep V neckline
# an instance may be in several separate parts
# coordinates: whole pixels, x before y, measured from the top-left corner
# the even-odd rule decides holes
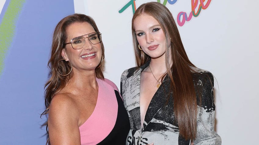
[[[179,136],[179,128],[173,113],[173,101],[168,101],[170,79],[162,81],[148,106],[143,128],[140,123],[140,74],[148,67],[150,61],[143,66],[125,70],[121,76],[121,94],[124,106],[130,118],[130,132],[127,145],[190,145],[190,140]],[[196,145],[221,145],[221,137],[214,130],[215,105],[213,96],[213,75],[199,70],[193,73],[196,96],[201,95],[198,105]],[[199,92],[197,90],[200,90]],[[197,102],[200,102],[197,100]]]

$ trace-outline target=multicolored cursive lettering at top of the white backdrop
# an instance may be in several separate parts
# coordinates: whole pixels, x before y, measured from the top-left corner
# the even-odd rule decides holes
[[[136,0],[130,0],[126,5],[122,7],[122,9],[119,10],[119,13],[122,13],[125,11],[128,7],[132,6],[132,12],[133,14],[136,11]],[[205,2],[206,1],[206,2]],[[157,0],[157,2],[161,3],[160,0]],[[166,3],[169,3],[170,5],[173,5],[177,2],[177,0],[164,0],[163,5],[166,5]],[[210,5],[211,0],[191,0],[191,8],[192,11],[189,13],[189,16],[187,16],[186,12],[179,12],[177,15],[177,24],[179,26],[184,26],[184,23],[186,21],[190,21],[192,19],[192,16],[198,17],[202,9],[207,9]],[[198,6],[199,4],[199,6]],[[197,9],[197,10],[196,10]]]

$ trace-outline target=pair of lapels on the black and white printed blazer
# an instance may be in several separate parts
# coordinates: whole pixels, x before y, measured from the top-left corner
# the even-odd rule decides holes
[[[124,100],[129,111],[131,126],[134,129],[141,129],[141,120],[140,120],[140,75],[144,68],[148,67],[150,60],[142,65],[138,70],[134,72],[127,80],[125,81],[125,95],[126,99]],[[155,114],[166,105],[167,96],[170,91],[170,78],[166,75],[165,79],[162,81],[161,86],[156,91],[155,95],[151,99],[151,102],[148,106],[146,116],[144,119],[143,129],[148,125],[148,123],[154,118]],[[172,95],[172,94],[170,94]],[[172,99],[169,100],[169,102]]]

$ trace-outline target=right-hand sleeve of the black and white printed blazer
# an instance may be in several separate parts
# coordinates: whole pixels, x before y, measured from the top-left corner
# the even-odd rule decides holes
[[[210,72],[200,72],[194,81],[198,102],[197,133],[195,145],[221,145],[221,137],[215,132],[214,79]],[[199,99],[200,98],[200,99]]]

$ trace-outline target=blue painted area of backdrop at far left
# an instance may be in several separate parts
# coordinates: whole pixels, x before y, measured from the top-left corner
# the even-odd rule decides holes
[[[13,43],[0,79],[0,144],[45,144],[44,84],[53,30],[74,13],[74,1],[27,0],[16,23]]]

